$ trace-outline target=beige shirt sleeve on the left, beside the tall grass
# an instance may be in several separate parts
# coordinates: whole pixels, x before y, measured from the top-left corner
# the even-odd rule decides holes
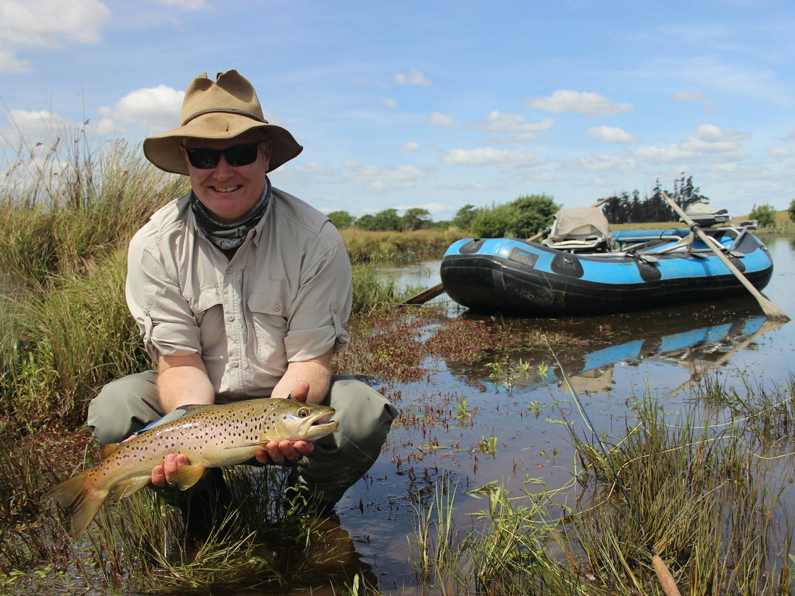
[[[163,261],[136,234],[127,255],[126,300],[149,357],[201,354],[200,332],[188,301]]]

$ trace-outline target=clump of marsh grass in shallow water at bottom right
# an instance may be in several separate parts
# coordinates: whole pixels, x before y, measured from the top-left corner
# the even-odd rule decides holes
[[[716,387],[702,383],[701,397]],[[472,586],[516,596],[662,594],[654,550],[682,594],[792,594],[795,528],[782,499],[791,480],[770,463],[795,449],[795,381],[723,389],[720,399],[734,396],[738,406],[731,421],[697,426],[712,416],[696,405],[672,423],[646,397],[626,433],[606,437],[635,513],[593,439],[574,426],[567,486],[580,487],[576,509],[555,504],[559,490],[509,493],[493,482],[471,491],[488,506],[475,514],[481,523],[462,530],[452,523],[452,489],[441,483],[413,521],[417,581],[442,594],[471,594]]]

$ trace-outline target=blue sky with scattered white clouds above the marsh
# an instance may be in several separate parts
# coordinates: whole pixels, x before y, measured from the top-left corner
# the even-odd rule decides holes
[[[322,211],[581,207],[686,172],[746,215],[795,199],[793,37],[765,0],[0,0],[0,134],[140,143],[236,68],[304,145],[273,184]]]

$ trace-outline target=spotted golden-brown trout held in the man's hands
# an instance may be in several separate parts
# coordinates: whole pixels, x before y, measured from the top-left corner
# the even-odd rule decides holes
[[[313,441],[333,432],[334,408],[292,399],[264,398],[232,404],[184,406],[188,411],[134,439],[104,447],[106,459],[47,493],[72,517],[72,536],[80,536],[113,491],[118,501],[149,483],[152,468],[166,455],[188,456],[178,466],[180,490],[189,489],[205,468],[232,466],[254,457],[269,441]]]

